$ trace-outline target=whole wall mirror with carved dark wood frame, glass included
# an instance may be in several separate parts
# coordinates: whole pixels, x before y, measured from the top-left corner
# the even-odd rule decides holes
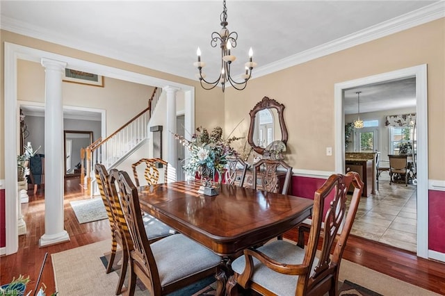
[[[288,135],[283,110],[283,104],[268,97],[264,97],[250,110],[248,142],[258,154],[263,155],[264,149],[275,140],[286,144]]]

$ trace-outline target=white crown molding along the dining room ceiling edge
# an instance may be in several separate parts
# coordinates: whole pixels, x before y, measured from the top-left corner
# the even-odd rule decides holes
[[[293,56],[277,60],[274,63],[257,67],[253,72],[254,76],[252,76],[251,79],[256,79],[261,76],[265,76],[267,74],[280,71],[282,69],[299,65],[301,63],[306,63],[309,60],[321,58],[322,56],[327,56],[337,51],[348,49],[350,47],[355,47],[359,44],[370,42],[372,40],[376,40],[378,38],[382,38],[394,33],[398,33],[400,31],[407,30],[408,28],[412,28],[414,26],[426,24],[428,22],[432,22],[442,17],[445,17],[444,0],[437,1],[435,3],[430,4],[429,6],[419,8],[418,10],[414,10],[410,13],[406,13],[405,15],[395,17],[394,19],[389,19],[375,26],[365,28],[362,31],[358,31],[356,33],[347,35],[343,38],[339,38],[337,40],[321,44],[318,47],[307,49],[306,51],[294,54]],[[26,35],[31,38],[37,38],[47,42],[61,44],[66,47],[71,47],[73,49],[79,49],[81,51],[87,51],[92,54],[98,54],[100,56],[106,56],[108,58],[122,60],[126,63],[141,65],[143,67],[148,67],[150,69],[155,69],[158,71],[165,72],[165,70],[160,70],[156,69],[156,67],[153,67],[150,61],[147,60],[146,58],[140,58],[140,57],[135,58],[135,56],[123,55],[122,52],[113,51],[113,49],[111,48],[93,47],[91,44],[85,44],[84,42],[81,42],[81,40],[72,40],[72,38],[67,38],[67,36],[63,34],[54,35],[54,33],[50,33],[49,31],[46,31],[42,28],[37,28],[35,26],[30,28],[30,26],[25,22],[17,21],[17,19],[12,19],[10,17],[1,17],[0,28],[6,31],[11,31],[13,33]],[[79,46],[79,44],[81,44],[81,46]],[[195,76],[189,76],[185,73],[170,72],[170,74],[197,81]],[[239,77],[236,77],[236,79],[240,78],[241,75]]]

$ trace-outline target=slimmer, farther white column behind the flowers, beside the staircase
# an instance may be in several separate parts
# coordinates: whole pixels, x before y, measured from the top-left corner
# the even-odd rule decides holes
[[[176,92],[179,88],[174,86],[166,86],[163,88],[167,97],[167,157],[166,161],[170,165],[168,167],[168,181],[176,181]]]

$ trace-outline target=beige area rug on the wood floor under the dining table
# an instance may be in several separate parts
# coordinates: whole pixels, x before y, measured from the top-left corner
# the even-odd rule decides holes
[[[114,295],[119,276],[116,272],[106,274],[104,263],[100,259],[106,252],[110,251],[110,247],[111,241],[104,240],[52,254],[54,280],[56,281],[58,296]],[[355,286],[357,294],[352,295],[366,296],[366,294],[362,294],[363,290],[360,291],[362,288],[381,295],[439,295],[346,260],[341,261],[339,281],[360,286],[359,290]],[[211,294],[214,293],[214,289],[211,289],[211,287],[206,286],[203,290],[198,291],[197,295],[214,295]],[[204,294],[207,292],[210,294]],[[138,290],[135,295],[147,295],[147,291]],[[181,296],[184,295],[186,294]]]

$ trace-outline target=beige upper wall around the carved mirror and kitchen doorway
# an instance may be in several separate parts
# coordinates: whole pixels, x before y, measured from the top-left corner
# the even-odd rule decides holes
[[[334,84],[428,65],[429,179],[445,180],[445,18],[253,79],[242,92],[228,88],[225,129],[243,120],[264,96],[284,104],[289,131],[287,161],[296,169],[334,171]],[[333,151],[334,152],[334,151]],[[291,155],[289,155],[291,154]]]

